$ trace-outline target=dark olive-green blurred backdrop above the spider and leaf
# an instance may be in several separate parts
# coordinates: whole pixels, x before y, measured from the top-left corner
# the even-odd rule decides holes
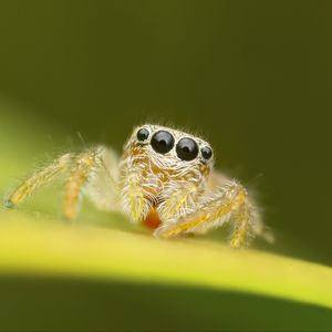
[[[121,151],[144,122],[203,134],[258,191],[277,243],[257,246],[332,266],[331,33],[331,1],[1,1],[0,97],[21,110],[1,117],[68,148]]]

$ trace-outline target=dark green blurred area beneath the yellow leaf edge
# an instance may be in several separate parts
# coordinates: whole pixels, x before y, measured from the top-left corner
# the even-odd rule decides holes
[[[2,278],[0,291],[0,305],[6,303],[0,310],[1,331],[331,331],[332,326],[328,309],[199,288]]]

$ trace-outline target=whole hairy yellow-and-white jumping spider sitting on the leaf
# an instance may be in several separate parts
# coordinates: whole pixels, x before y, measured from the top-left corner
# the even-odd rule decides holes
[[[271,240],[246,188],[212,165],[207,142],[146,124],[134,129],[122,157],[104,146],[65,154],[22,181],[7,196],[6,205],[14,207],[64,176],[63,215],[68,219],[76,217],[86,195],[97,208],[124,212],[132,222],[154,228],[158,238],[205,234],[230,221],[232,248],[256,235]]]

